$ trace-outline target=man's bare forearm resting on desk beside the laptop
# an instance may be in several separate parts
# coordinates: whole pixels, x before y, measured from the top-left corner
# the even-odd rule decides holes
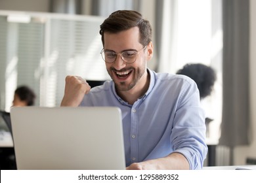
[[[127,169],[159,169],[159,170],[188,170],[188,160],[180,153],[172,153],[169,156],[158,159],[150,159],[140,163],[133,163]]]

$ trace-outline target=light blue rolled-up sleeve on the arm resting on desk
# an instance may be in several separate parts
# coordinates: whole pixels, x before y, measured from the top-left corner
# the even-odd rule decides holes
[[[174,152],[179,152],[188,159],[190,169],[202,169],[207,154],[205,112],[200,107],[196,84],[188,82],[184,86],[178,101],[170,140]]]

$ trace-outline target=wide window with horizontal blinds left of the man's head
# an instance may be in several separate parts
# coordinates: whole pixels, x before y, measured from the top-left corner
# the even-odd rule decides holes
[[[35,90],[36,105],[60,105],[66,75],[108,80],[98,33],[104,18],[0,11],[1,108],[9,111],[17,86]],[[22,22],[22,17],[27,22]],[[10,22],[11,21],[11,22]],[[5,78],[5,79],[3,79]]]

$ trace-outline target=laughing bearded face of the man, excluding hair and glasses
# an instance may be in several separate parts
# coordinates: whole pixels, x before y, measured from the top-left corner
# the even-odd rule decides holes
[[[144,48],[139,42],[139,27],[133,27],[119,33],[104,33],[104,50],[116,52],[118,55],[113,63],[106,63],[106,69],[116,84],[118,91],[128,91],[137,85],[146,83],[146,62],[148,46]],[[142,50],[143,49],[143,50]],[[133,63],[126,63],[119,53],[127,50],[139,51]],[[140,88],[140,87],[138,87]]]

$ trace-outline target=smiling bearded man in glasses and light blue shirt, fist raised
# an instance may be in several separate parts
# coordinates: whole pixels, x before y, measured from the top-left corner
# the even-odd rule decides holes
[[[139,12],[113,12],[100,35],[112,80],[91,89],[83,78],[67,76],[61,106],[119,107],[127,169],[202,169],[205,116],[196,83],[147,68],[152,28]]]

